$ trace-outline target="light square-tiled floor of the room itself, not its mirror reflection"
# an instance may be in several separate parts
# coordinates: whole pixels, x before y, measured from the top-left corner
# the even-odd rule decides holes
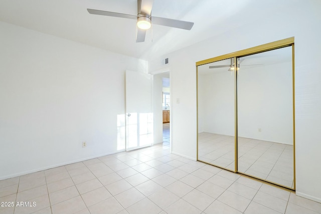
[[[0,202],[8,214],[321,213],[321,203],[171,154],[168,140],[1,180]]]

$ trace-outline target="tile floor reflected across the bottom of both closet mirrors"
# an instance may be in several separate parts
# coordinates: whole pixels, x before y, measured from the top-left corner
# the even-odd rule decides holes
[[[199,160],[234,170],[234,137],[199,133]],[[293,146],[238,137],[238,171],[292,187]]]

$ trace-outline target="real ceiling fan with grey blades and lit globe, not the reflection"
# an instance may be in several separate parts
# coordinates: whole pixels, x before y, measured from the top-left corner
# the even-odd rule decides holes
[[[185,30],[192,29],[194,25],[194,23],[192,22],[173,20],[173,19],[167,19],[167,18],[161,18],[161,17],[152,17],[151,16],[152,3],[153,3],[153,0],[137,0],[137,16],[129,15],[129,14],[120,14],[120,13],[109,12],[109,11],[99,11],[94,9],[87,9],[87,11],[90,14],[94,14],[94,15],[137,20],[138,32],[136,37],[136,43],[145,41],[146,31],[151,27],[151,24],[163,25],[163,26],[168,26],[172,28],[180,28]]]

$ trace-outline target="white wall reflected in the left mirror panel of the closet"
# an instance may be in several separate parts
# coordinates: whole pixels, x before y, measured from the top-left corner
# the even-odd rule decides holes
[[[208,65],[203,65],[208,67]],[[228,68],[227,68],[228,69]],[[234,136],[234,74],[213,72],[198,75],[198,132]]]

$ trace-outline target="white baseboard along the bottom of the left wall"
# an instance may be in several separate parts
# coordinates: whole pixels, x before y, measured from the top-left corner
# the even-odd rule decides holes
[[[68,164],[72,164],[72,163],[77,163],[77,162],[81,162],[81,161],[85,161],[85,160],[90,160],[90,159],[93,159],[93,158],[102,157],[102,156],[106,156],[106,155],[110,155],[110,154],[116,154],[116,153],[123,152],[123,151],[125,151],[125,150],[120,150],[120,151],[117,151],[117,152],[111,152],[111,153],[106,153],[106,154],[99,154],[99,155],[95,155],[95,156],[91,156],[91,157],[80,158],[80,159],[76,159],[76,160],[72,160],[72,161],[67,161],[67,162],[63,162],[63,163],[58,163],[58,164],[54,164],[54,165],[49,165],[49,166],[37,168],[37,169],[32,169],[32,170],[19,172],[19,173],[5,175],[5,176],[0,177],[0,180],[5,180],[5,179],[8,179],[8,178],[13,178],[13,177],[17,177],[17,176],[21,176],[21,175],[25,175],[25,174],[30,174],[30,173],[33,173],[33,172],[43,171],[43,170],[47,170],[47,169],[51,169],[51,168],[55,168],[55,167],[59,167],[59,166],[64,166],[64,165],[68,165]]]

